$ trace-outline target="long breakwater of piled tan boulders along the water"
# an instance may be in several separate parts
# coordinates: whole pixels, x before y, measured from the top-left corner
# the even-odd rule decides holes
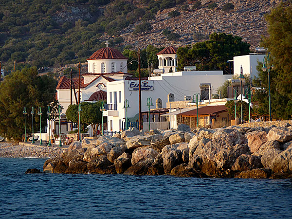
[[[44,172],[178,177],[292,178],[292,127],[189,131],[130,128],[116,137],[74,142]]]

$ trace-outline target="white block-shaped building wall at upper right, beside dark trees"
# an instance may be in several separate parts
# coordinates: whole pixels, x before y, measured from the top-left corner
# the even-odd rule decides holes
[[[251,78],[254,78],[254,76],[257,76],[258,74],[256,70],[257,61],[263,62],[264,56],[265,55],[250,54],[250,55],[241,55],[241,56],[233,57],[234,75],[240,74],[240,65],[241,65],[243,74],[250,75],[251,68],[252,68]]]

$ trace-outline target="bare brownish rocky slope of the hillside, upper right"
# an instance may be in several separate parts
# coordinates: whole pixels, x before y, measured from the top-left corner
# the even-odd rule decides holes
[[[135,25],[130,25],[122,34],[124,44],[133,45],[135,48],[145,48],[147,45],[157,47],[167,46],[170,42],[163,35],[163,30],[168,29],[172,33],[177,33],[181,37],[174,43],[177,46],[188,45],[196,42],[194,32],[202,35],[210,35],[214,32],[237,35],[244,41],[251,44],[251,49],[259,45],[260,36],[267,34],[267,22],[264,15],[269,13],[281,0],[217,0],[218,7],[209,9],[211,0],[202,0],[200,9],[191,9],[192,4],[188,4],[188,10],[181,7],[174,7],[158,11],[155,20],[149,21],[152,30],[145,35],[137,37],[133,41],[133,30]],[[228,12],[222,11],[226,3],[233,3],[234,9]],[[170,18],[168,13],[178,10],[181,15]]]

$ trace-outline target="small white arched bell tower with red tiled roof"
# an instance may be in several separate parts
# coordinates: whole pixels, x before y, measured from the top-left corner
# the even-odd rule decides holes
[[[176,51],[176,48],[169,46],[156,54],[158,56],[158,69],[164,69],[164,73],[169,73],[170,69],[172,72],[176,72],[178,68]]]

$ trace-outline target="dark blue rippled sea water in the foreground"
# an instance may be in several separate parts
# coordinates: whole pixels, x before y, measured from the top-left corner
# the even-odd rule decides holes
[[[44,161],[0,158],[1,219],[292,219],[292,180],[24,174]]]

